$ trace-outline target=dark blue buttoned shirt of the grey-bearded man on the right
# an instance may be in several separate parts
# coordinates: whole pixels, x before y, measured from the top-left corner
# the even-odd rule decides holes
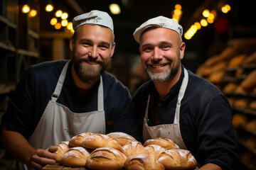
[[[147,81],[134,94],[139,128],[149,102],[149,126],[173,124],[178,92],[184,77],[159,97],[152,81]],[[225,169],[237,169],[239,150],[232,125],[232,112],[225,96],[209,81],[188,71],[188,86],[181,101],[180,129],[183,142],[199,164],[213,163]]]

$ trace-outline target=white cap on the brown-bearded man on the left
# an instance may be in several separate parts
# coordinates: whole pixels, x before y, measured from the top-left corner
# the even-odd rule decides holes
[[[92,10],[88,13],[83,13],[80,16],[73,18],[73,29],[76,30],[78,27],[85,24],[95,24],[110,28],[114,33],[114,24],[110,15],[103,11]]]

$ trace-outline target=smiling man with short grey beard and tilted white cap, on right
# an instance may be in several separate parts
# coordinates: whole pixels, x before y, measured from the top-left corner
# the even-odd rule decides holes
[[[182,27],[159,16],[134,31],[142,67],[151,80],[134,94],[144,141],[166,137],[194,155],[200,169],[238,169],[232,113],[227,98],[181,64]]]

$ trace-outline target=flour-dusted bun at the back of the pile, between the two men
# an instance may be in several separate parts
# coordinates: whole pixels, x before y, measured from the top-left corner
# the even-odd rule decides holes
[[[121,146],[126,145],[128,142],[137,142],[131,135],[128,135],[124,132],[111,132],[107,134],[107,136],[111,137],[114,140],[117,140]]]

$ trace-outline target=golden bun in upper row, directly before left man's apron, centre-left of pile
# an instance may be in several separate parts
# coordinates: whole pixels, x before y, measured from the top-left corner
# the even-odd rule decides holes
[[[122,151],[122,146],[116,140],[102,134],[92,134],[82,142],[82,147],[97,149],[98,147],[112,147]]]

